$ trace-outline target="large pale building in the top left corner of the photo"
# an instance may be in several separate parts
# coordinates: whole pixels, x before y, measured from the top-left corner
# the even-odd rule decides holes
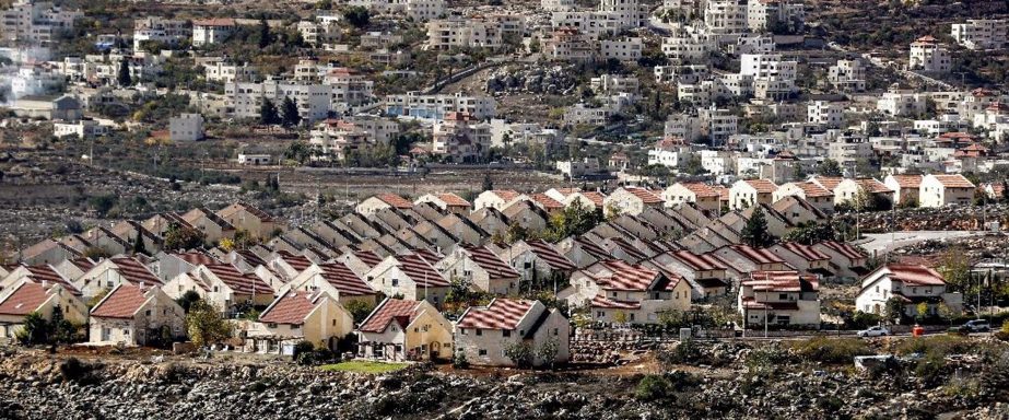
[[[60,32],[73,28],[84,16],[79,10],[54,5],[51,1],[14,0],[0,12],[0,39],[7,43],[49,45]]]

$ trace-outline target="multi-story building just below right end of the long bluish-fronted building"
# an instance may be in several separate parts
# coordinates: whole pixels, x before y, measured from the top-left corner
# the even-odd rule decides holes
[[[491,150],[491,125],[466,113],[448,113],[434,124],[431,153],[451,162],[476,162]]]

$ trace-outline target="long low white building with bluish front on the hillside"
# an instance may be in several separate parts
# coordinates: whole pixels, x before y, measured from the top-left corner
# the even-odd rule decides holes
[[[386,96],[386,114],[419,119],[445,119],[448,113],[466,113],[477,119],[490,119],[497,114],[497,101],[491,96],[470,96],[461,92],[451,95],[423,95],[410,92]]]

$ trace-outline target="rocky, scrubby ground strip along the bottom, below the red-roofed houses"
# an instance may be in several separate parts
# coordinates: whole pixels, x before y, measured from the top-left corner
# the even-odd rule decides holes
[[[989,354],[973,364],[945,362],[928,378],[911,366],[870,374],[855,372],[847,361],[820,365],[781,346],[703,345],[676,363],[633,368],[548,373],[414,366],[380,376],[277,361],[78,361],[8,352],[0,361],[0,418],[1009,419],[1009,363],[1001,345],[979,346]],[[660,393],[641,394],[645,374],[662,377]]]

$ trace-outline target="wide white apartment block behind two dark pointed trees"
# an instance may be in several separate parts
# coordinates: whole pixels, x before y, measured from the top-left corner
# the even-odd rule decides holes
[[[325,84],[296,83],[269,79],[262,82],[233,82],[224,85],[225,106],[236,118],[259,118],[263,101],[280,109],[284,97],[297,104],[303,121],[326,119],[331,110],[332,89]]]

